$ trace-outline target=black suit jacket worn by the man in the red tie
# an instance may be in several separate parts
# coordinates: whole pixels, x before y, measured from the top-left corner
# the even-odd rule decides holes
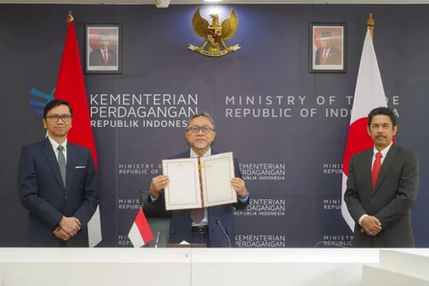
[[[410,207],[419,186],[417,156],[391,145],[383,160],[375,188],[371,185],[373,148],[352,156],[344,200],[355,221],[353,246],[357,248],[414,248]],[[374,215],[383,230],[375,236],[362,233],[363,214]]]

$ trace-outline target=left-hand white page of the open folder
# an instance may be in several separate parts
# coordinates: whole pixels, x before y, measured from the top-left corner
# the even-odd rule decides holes
[[[201,207],[198,159],[163,160],[163,172],[170,179],[165,191],[165,209]]]

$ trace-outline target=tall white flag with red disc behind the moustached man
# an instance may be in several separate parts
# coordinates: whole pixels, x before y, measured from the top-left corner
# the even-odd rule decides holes
[[[367,116],[371,110],[381,106],[387,107],[387,102],[384,96],[382,76],[378,69],[373,41],[369,29],[367,29],[357,74],[355,97],[351,109],[349,135],[342,164],[341,213],[346,223],[349,224],[351,231],[354,231],[355,222],[351,218],[344,201],[347,178],[349,177],[349,162],[350,158],[356,153],[374,146],[373,140],[367,132]]]

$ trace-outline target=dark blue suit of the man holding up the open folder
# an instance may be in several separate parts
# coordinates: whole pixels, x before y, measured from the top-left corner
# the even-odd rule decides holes
[[[214,152],[212,149],[212,155],[219,154]],[[173,156],[170,159],[177,158],[189,158],[190,150],[184,152],[178,156]],[[239,162],[234,158],[234,172],[236,178],[241,178],[241,172],[239,168]],[[210,206],[207,207],[207,216],[208,216],[208,230],[209,230],[209,239],[211,248],[228,248],[229,243],[225,234],[223,233],[220,225],[215,221],[217,218],[221,219],[223,228],[231,240],[231,247],[235,246],[235,227],[234,227],[234,214],[232,213],[232,207],[234,206],[237,209],[244,209],[248,206],[249,198],[246,203],[242,203],[240,199],[238,203],[232,205],[223,205],[223,206]],[[148,201],[151,202],[150,194],[148,196]],[[155,202],[152,203],[154,206],[157,206],[165,210],[165,197],[164,189],[159,193],[159,197]],[[169,243],[181,243],[181,241],[191,241],[191,232],[192,220],[190,219],[190,210],[174,210],[172,211],[172,220],[170,223],[170,239]]]

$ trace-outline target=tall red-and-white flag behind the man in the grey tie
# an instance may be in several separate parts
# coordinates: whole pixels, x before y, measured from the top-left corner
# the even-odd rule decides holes
[[[97,170],[96,145],[92,134],[87,91],[83,80],[78,40],[72,17],[67,29],[67,37],[65,38],[63,58],[54,98],[67,100],[71,108],[73,108],[73,128],[67,134],[67,139],[81,147],[87,147],[91,151]],[[99,206],[97,206],[96,213],[88,222],[89,247],[95,247],[101,240],[100,210]]]

